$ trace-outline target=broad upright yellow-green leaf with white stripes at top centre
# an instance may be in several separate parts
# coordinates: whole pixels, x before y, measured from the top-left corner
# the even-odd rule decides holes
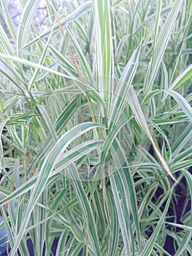
[[[96,43],[96,75],[101,96],[111,102],[114,77],[112,14],[110,0],[93,1]]]

